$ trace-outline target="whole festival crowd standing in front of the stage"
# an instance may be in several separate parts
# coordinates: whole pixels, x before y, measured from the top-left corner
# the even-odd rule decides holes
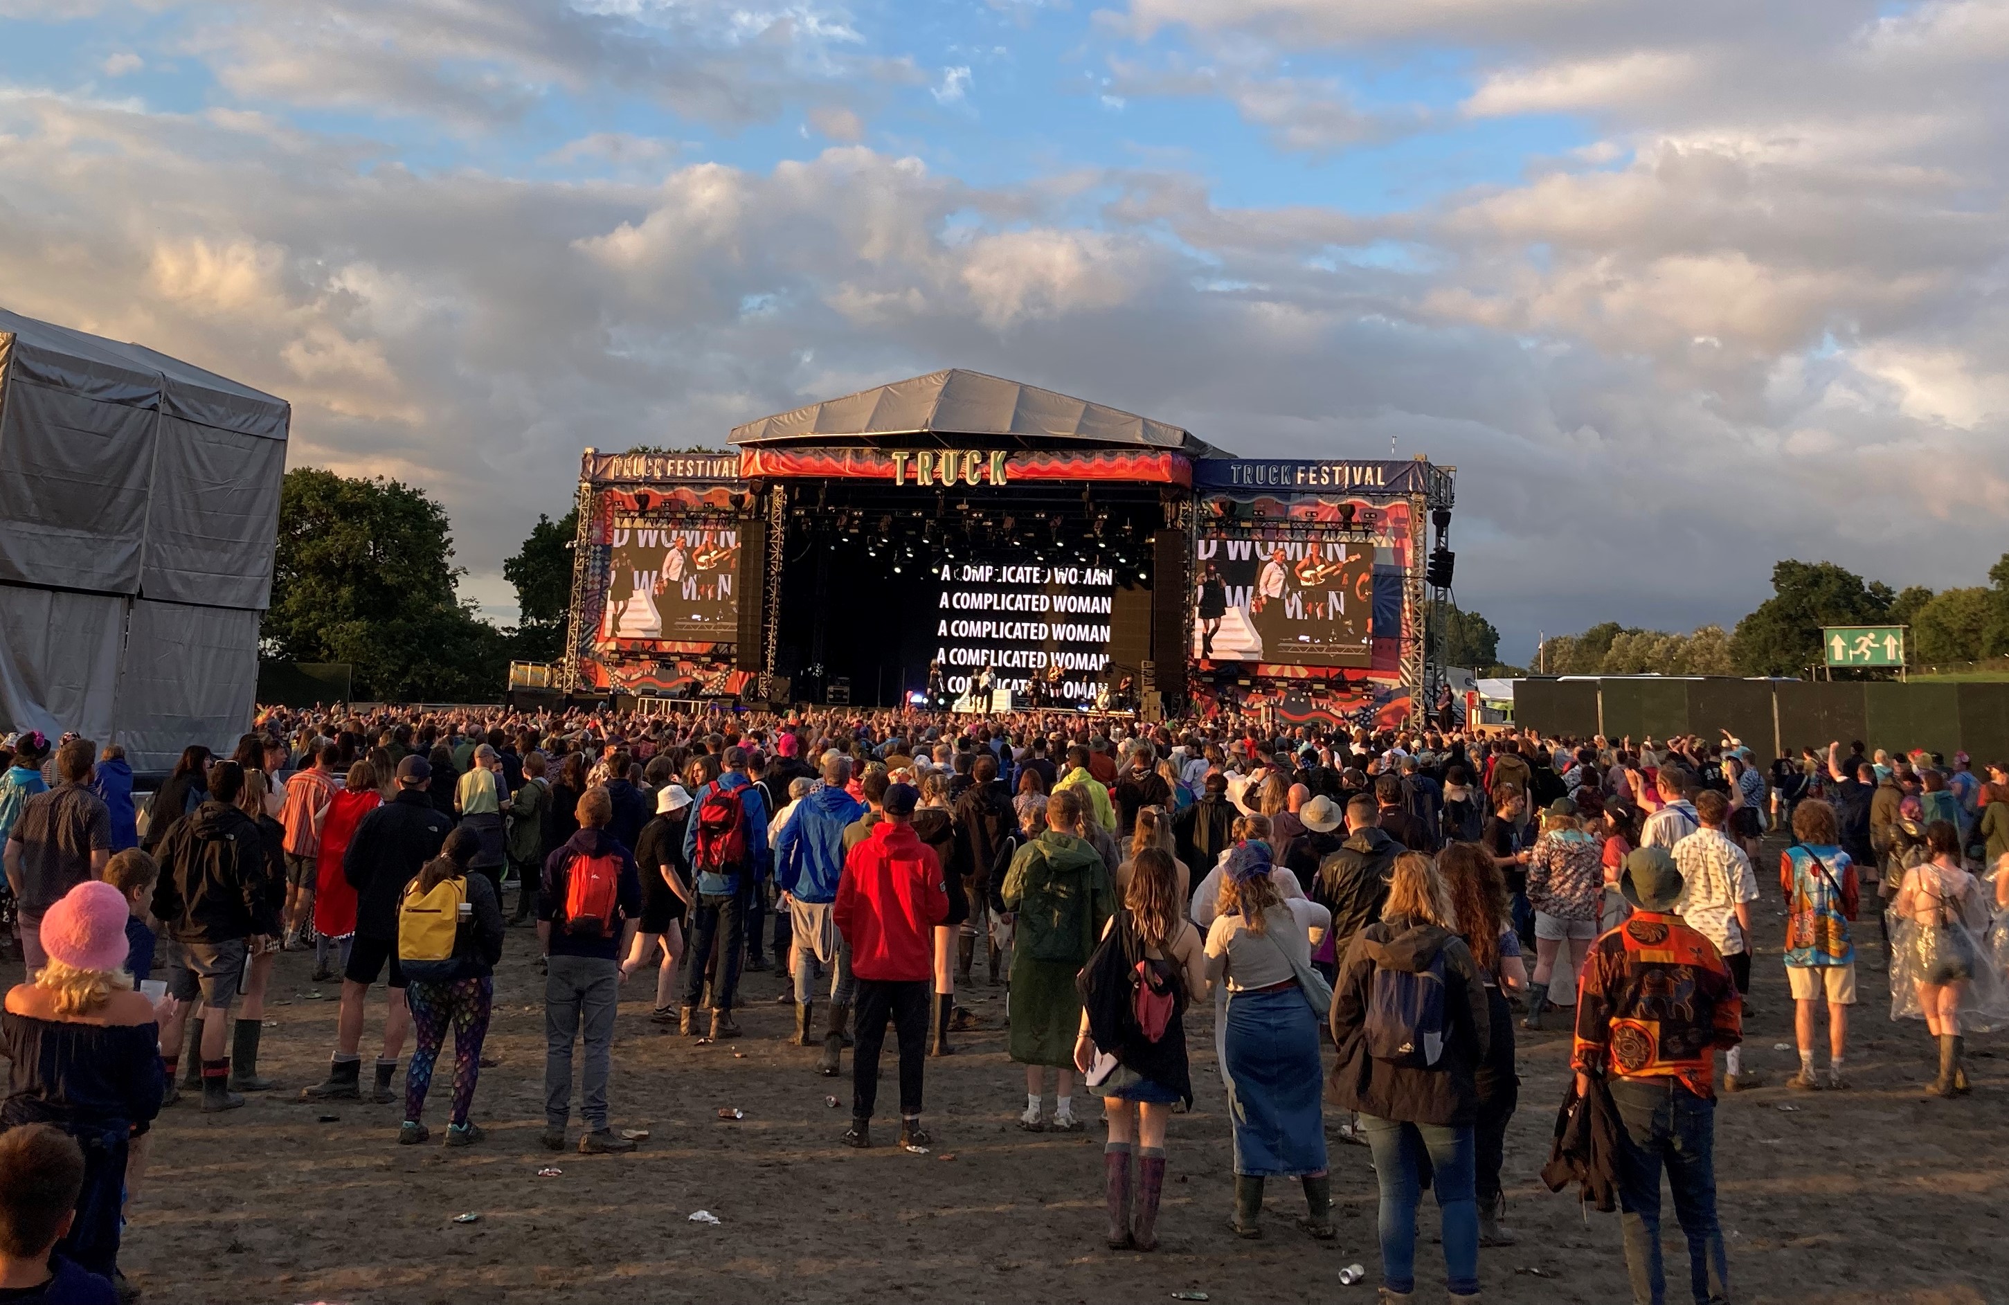
[[[442,1140],[482,1140],[510,928],[544,984],[552,1150],[637,1146],[611,1092],[615,1012],[645,970],[649,1020],[709,1040],[739,1036],[745,974],[779,972],[806,1070],[840,1076],[852,1054],[850,1146],[876,1144],[890,1026],[914,1150],[932,1144],[926,1062],[974,1024],[956,994],[1004,988],[1019,1126],[1077,1132],[1075,1088],[1101,1100],[1107,1243],[1137,1251],[1157,1245],[1171,1116],[1193,1104],[1185,1018],[1211,1004],[1227,1233],[1262,1237],[1266,1185],[1296,1179],[1292,1227],[1334,1239],[1328,1136],[1360,1142],[1384,1301],[1418,1291],[1424,1189],[1453,1299],[1477,1297],[1481,1247],[1515,1241],[1515,1038],[1551,1022],[1573,1038],[1557,1094],[1613,1136],[1559,1140],[1551,1170],[1615,1189],[1641,1303],[1665,1295],[1665,1172],[1694,1297],[1728,1299],[1714,1108],[1760,1084],[1740,1038],[1768,833],[1788,843],[1786,932],[1766,942],[1794,1000],[1790,1086],[1848,1086],[1864,901],[1888,903],[1872,914],[1892,1016],[1927,1022],[1933,1094],[1969,1092],[1963,1034],[2009,1018],[1993,928],[2009,773],[1981,781],[1965,755],[1762,763],[1730,737],[1236,717],[271,709],[229,757],[189,747],[135,797],[117,747],[30,733],[6,751],[4,909],[26,978],[0,1016],[0,1293],[42,1291],[6,1299],[131,1297],[117,1253],[149,1126],[275,1088],[263,1004],[287,950],[342,980],[327,1078],[303,1096],[402,1100],[398,1144],[432,1136],[448,1036]]]

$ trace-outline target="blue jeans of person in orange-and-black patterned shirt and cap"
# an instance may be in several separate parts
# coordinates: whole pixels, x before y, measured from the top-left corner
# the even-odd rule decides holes
[[[1619,1108],[1619,1227],[1635,1305],[1661,1305],[1667,1279],[1659,1261],[1659,1174],[1667,1170],[1673,1217],[1688,1237],[1696,1305],[1730,1299],[1730,1259],[1716,1223],[1716,1102],[1676,1080],[1613,1078]]]

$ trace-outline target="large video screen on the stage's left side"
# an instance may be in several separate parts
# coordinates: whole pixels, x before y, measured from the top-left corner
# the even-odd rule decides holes
[[[739,530],[615,516],[599,642],[733,642]]]

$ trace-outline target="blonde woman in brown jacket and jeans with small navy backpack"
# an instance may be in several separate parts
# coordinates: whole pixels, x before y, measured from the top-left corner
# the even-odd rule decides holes
[[[1424,1164],[1442,1215],[1450,1297],[1479,1295],[1477,1070],[1491,1056],[1491,1030],[1450,887],[1430,857],[1404,851],[1382,918],[1348,944],[1332,988],[1332,1092],[1360,1114],[1374,1152],[1384,1301],[1416,1291]]]

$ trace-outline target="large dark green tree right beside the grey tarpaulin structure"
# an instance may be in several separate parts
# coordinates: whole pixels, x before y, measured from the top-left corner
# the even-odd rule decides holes
[[[360,699],[494,701],[508,646],[458,600],[452,556],[446,510],[422,490],[295,468],[261,640],[279,659],[350,663]]]

